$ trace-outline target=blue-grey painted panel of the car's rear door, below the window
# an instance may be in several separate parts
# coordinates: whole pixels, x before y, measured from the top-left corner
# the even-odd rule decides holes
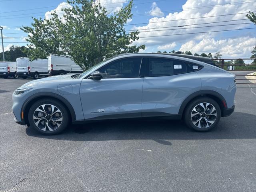
[[[171,76],[145,77],[142,117],[178,114],[182,102],[201,89],[197,72]]]

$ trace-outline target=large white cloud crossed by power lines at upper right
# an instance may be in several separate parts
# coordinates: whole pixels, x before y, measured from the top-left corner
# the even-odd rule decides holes
[[[140,30],[140,39],[136,42],[136,44],[145,44],[146,46],[164,46],[166,42],[176,42],[176,44],[184,44],[189,40],[202,40],[203,38],[212,38],[218,37],[220,34],[224,32],[214,32],[214,33],[205,33],[205,34],[188,34],[188,35],[179,35],[179,36],[162,36],[162,35],[173,35],[173,34],[183,34],[183,33],[195,33],[195,32],[207,32],[207,31],[215,31],[215,30],[230,30],[230,29],[240,29],[246,28],[250,24],[241,24],[247,23],[248,20],[240,20],[236,22],[229,22],[228,24],[236,24],[240,23],[241,25],[230,25],[230,26],[217,26],[217,27],[206,27],[206,28],[192,28],[198,26],[211,26],[211,25],[223,25],[227,23],[220,24],[205,24],[198,26],[185,26],[182,29],[181,27],[172,27],[172,28],[163,28],[170,26],[182,26],[182,25],[191,25],[191,24],[200,24],[207,22],[217,22],[217,21],[225,21],[225,20],[237,20],[237,19],[245,19],[245,14],[236,14],[236,15],[227,15],[221,17],[210,17],[210,18],[200,18],[200,19],[189,19],[189,18],[198,18],[198,17],[206,17],[206,16],[216,16],[223,14],[233,14],[233,13],[242,13],[248,12],[252,10],[252,7],[256,7],[256,2],[245,2],[243,4],[236,3],[237,0],[187,0],[186,3],[182,6],[183,10],[181,12],[169,13],[165,17],[161,18],[151,18],[149,23],[145,26],[138,26],[132,28],[133,30]],[[224,3],[232,3],[226,5],[219,5]],[[200,6],[209,6],[218,4],[218,6],[203,8],[203,9],[191,9]],[[190,9],[190,10],[188,10]],[[186,20],[186,18],[188,18]],[[183,19],[183,20],[181,20]],[[185,19],[185,20],[184,20]],[[167,22],[166,22],[167,21]],[[168,22],[169,21],[169,22]],[[158,28],[152,29],[150,28]],[[159,31],[159,30],[162,31]],[[175,29],[175,30],[167,30],[167,29]],[[142,31],[148,32],[142,32]],[[155,31],[154,31],[155,30]],[[158,30],[158,31],[156,31]],[[251,30],[252,31],[252,30]],[[149,37],[142,38],[147,36],[162,36],[162,37]]]

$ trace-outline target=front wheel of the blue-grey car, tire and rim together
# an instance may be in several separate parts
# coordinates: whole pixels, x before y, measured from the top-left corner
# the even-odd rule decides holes
[[[28,121],[32,128],[45,135],[62,132],[69,122],[68,111],[56,100],[43,99],[35,102],[29,112]]]

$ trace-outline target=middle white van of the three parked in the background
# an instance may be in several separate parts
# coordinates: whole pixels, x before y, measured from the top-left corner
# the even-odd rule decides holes
[[[48,60],[47,59],[37,59],[30,61],[27,57],[20,57],[16,59],[17,64],[17,74],[23,79],[27,77],[33,77],[38,79],[39,76],[48,77]]]

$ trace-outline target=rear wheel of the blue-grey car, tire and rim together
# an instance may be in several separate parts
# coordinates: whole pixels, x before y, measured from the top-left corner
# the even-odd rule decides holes
[[[184,119],[188,127],[205,132],[220,121],[221,110],[218,103],[208,97],[193,100],[186,108]]]

